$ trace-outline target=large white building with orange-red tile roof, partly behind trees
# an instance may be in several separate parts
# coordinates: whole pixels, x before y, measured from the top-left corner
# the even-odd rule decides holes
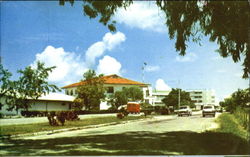
[[[118,75],[103,76],[102,79],[104,80],[104,87],[107,88],[107,91],[105,92],[106,100],[101,102],[100,104],[101,110],[105,110],[111,107],[107,101],[111,95],[113,95],[116,91],[121,91],[123,88],[129,87],[139,87],[143,91],[143,99],[145,100],[145,102],[153,104],[152,88],[150,84],[129,80]],[[85,83],[85,81],[82,81],[64,86],[63,89],[65,89],[65,94],[77,96],[77,87],[80,85],[84,85]]]

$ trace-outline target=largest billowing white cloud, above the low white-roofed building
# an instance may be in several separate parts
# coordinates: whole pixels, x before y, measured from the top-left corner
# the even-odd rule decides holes
[[[82,74],[87,70],[81,56],[74,52],[66,52],[63,48],[55,48],[47,46],[41,53],[36,54],[36,59],[32,66],[37,61],[45,63],[45,66],[56,66],[50,73],[48,81],[61,84],[72,83],[79,81]]]

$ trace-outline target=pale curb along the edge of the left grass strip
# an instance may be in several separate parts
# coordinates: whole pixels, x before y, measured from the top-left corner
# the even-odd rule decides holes
[[[150,117],[148,117],[148,118],[150,118]],[[153,119],[153,118],[151,117],[150,119]],[[56,134],[56,133],[66,132],[66,131],[75,131],[75,130],[82,130],[82,129],[98,128],[98,127],[103,127],[103,126],[126,124],[126,123],[130,123],[130,122],[142,121],[142,120],[145,120],[145,119],[127,120],[127,121],[121,121],[121,122],[111,122],[111,123],[104,123],[104,124],[98,124],[98,125],[89,125],[89,126],[83,126],[83,127],[74,127],[74,128],[58,129],[58,130],[51,130],[51,131],[41,131],[41,132],[18,134],[18,135],[5,135],[5,136],[0,137],[0,139],[1,140],[2,139],[18,139],[18,138],[28,137],[28,136],[52,135],[52,134]]]

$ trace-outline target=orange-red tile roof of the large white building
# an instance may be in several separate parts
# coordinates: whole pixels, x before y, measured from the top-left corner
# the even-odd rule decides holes
[[[104,84],[138,85],[138,86],[147,86],[148,85],[148,84],[145,84],[145,83],[141,83],[141,82],[129,80],[129,79],[126,79],[126,78],[122,78],[122,77],[120,77],[118,75],[108,75],[108,76],[103,76],[102,78],[104,80]],[[77,83],[73,83],[73,84],[64,86],[62,88],[77,87],[77,86],[83,85],[85,83],[86,83],[85,81],[77,82]]]

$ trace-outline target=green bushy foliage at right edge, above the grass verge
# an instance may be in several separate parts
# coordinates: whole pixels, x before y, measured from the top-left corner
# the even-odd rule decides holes
[[[250,88],[247,89],[238,89],[234,92],[230,98],[226,98],[224,101],[220,102],[222,107],[230,112],[234,112],[237,107],[246,107],[250,102]]]

